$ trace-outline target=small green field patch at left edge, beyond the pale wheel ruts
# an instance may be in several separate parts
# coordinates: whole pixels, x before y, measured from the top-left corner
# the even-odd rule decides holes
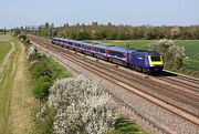
[[[8,41],[0,41],[0,65],[3,61],[4,55],[11,49],[11,44]]]

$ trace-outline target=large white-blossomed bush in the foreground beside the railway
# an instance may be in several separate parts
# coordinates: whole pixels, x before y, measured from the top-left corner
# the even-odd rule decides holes
[[[48,103],[56,110],[56,134],[103,134],[115,123],[115,111],[105,86],[82,75],[55,82]]]

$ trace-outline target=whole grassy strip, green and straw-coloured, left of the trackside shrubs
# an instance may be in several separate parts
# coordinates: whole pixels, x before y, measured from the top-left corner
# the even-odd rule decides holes
[[[0,134],[27,134],[35,101],[24,45],[9,34],[0,35]]]

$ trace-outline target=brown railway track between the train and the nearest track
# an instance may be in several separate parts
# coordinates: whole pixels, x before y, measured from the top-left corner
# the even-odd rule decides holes
[[[43,42],[43,43],[46,43],[46,42]],[[64,51],[62,48],[57,48],[57,49],[60,51]],[[78,55],[73,55],[73,56],[78,56]],[[171,97],[172,100],[176,100],[176,101],[181,102],[184,104],[192,105],[192,107],[196,109],[196,116],[198,116],[198,111],[197,110],[199,109],[199,103],[198,103],[199,97],[198,97],[198,95],[195,95],[195,93],[190,93],[190,92],[187,92],[187,91],[184,91],[184,90],[180,90],[180,89],[169,87],[168,85],[164,85],[164,84],[154,82],[151,80],[146,80],[143,76],[137,76],[135,74],[129,75],[129,72],[117,70],[115,68],[109,68],[106,64],[95,63],[95,62],[93,62],[93,61],[91,61],[88,59],[82,58],[82,56],[78,56],[78,59],[86,60],[87,63],[95,64],[96,66],[98,65],[98,66],[101,66],[101,69],[104,69],[104,70],[108,70],[113,74],[118,74],[117,78],[121,78],[122,79],[121,81],[129,80],[127,83],[130,83],[132,81],[136,81],[140,85],[145,85],[145,86],[148,86],[148,87],[153,89],[154,93],[158,92],[158,93],[160,93],[160,94],[163,94],[165,96]],[[146,81],[147,81],[147,83],[146,83]],[[133,86],[133,84],[132,84],[132,86]],[[144,92],[147,92],[148,94],[151,94],[153,96],[155,96],[148,90],[144,91]],[[156,97],[160,99],[161,96],[156,95]],[[167,100],[167,102],[169,103],[168,100]],[[189,107],[187,107],[187,111],[189,111],[190,113],[192,112],[192,111],[189,110]]]

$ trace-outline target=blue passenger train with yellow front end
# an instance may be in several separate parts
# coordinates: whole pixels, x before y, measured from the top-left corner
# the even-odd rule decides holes
[[[148,74],[161,73],[164,69],[163,58],[156,51],[127,49],[64,38],[52,38],[52,43]]]

